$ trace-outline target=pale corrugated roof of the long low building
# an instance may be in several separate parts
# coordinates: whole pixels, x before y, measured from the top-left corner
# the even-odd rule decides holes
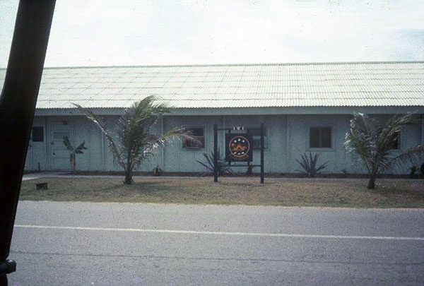
[[[37,109],[148,95],[177,108],[424,106],[424,62],[45,68]]]

